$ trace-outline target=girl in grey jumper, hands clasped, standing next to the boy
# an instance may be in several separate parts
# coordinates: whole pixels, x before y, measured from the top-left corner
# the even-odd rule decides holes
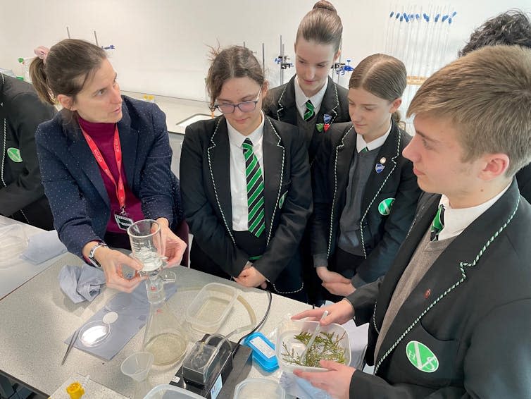
[[[404,63],[363,59],[349,82],[352,122],[332,125],[313,164],[313,264],[332,294],[383,276],[413,221],[420,189],[397,111],[405,88]]]

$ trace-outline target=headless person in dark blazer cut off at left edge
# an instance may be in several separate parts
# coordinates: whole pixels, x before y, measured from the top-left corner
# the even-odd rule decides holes
[[[32,226],[54,229],[41,182],[35,130],[54,117],[32,85],[0,73],[0,214]]]

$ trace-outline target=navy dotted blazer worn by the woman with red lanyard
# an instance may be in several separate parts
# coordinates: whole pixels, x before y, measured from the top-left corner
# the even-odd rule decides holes
[[[165,114],[156,104],[122,98],[117,126],[127,185],[146,219],[164,217],[175,228],[182,209]],[[85,244],[104,239],[111,217],[100,168],[77,122],[62,113],[39,125],[35,141],[54,226],[68,251],[82,257]]]

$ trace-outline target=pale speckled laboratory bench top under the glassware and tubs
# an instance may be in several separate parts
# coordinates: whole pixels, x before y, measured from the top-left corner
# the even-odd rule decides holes
[[[120,372],[120,364],[127,356],[142,350],[144,329],[108,362],[73,348],[65,364],[61,366],[67,348],[64,341],[118,293],[117,290],[104,288],[92,302],[73,304],[58,285],[58,273],[65,264],[80,265],[82,261],[73,254],[64,254],[48,269],[0,300],[0,374],[20,381],[37,393],[50,395],[65,381],[79,373],[89,375],[91,380],[131,397],[135,383]],[[168,300],[168,305],[177,319],[184,319],[185,311],[196,293],[211,282],[225,283],[237,288],[253,307],[257,320],[261,320],[266,312],[268,295],[264,291],[242,288],[232,281],[183,266],[173,270],[177,274],[177,293]],[[309,305],[302,302],[274,294],[270,314],[261,331],[267,335],[286,314],[295,314],[308,308]],[[218,333],[226,335],[247,324],[249,314],[244,306],[236,301]],[[245,333],[242,332],[231,339],[237,340]],[[191,342],[199,340],[201,336],[202,333],[193,333]],[[179,365],[152,367],[151,384],[155,386],[168,383]],[[249,377],[274,378],[256,367],[252,367]]]

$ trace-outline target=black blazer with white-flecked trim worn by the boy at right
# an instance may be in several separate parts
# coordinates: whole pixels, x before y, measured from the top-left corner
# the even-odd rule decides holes
[[[373,358],[396,284],[430,228],[439,199],[421,197],[418,216],[385,277],[347,297],[356,324],[370,323],[366,358],[375,364],[375,375],[354,372],[351,398],[531,398],[531,206],[516,180],[439,255]],[[408,360],[412,341],[437,357],[425,367],[432,372]]]

